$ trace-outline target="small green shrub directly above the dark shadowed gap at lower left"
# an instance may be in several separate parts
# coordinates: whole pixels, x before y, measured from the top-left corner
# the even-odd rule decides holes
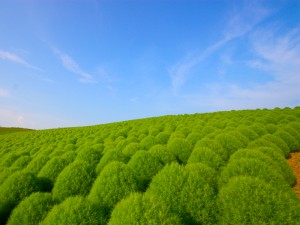
[[[50,159],[40,170],[40,172],[38,173],[38,177],[45,177],[49,179],[52,184],[54,184],[58,175],[68,164],[68,161],[64,158],[54,157]]]

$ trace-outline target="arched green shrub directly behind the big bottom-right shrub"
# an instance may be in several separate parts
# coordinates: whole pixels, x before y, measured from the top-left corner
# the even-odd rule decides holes
[[[236,176],[252,176],[272,184],[282,190],[289,190],[290,186],[284,177],[266,162],[256,158],[241,158],[230,160],[220,174],[219,185],[223,187],[226,183]]]

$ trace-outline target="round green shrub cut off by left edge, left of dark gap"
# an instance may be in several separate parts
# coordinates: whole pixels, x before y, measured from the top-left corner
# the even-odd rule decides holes
[[[37,191],[43,191],[43,186],[34,174],[18,171],[9,176],[0,186],[0,224],[22,199]]]

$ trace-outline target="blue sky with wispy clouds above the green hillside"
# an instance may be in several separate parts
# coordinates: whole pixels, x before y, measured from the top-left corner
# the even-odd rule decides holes
[[[300,105],[300,1],[3,0],[0,126]]]

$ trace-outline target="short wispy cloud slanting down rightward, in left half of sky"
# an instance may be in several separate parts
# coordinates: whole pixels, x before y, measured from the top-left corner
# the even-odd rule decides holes
[[[97,83],[94,77],[80,68],[80,66],[69,55],[56,48],[53,48],[53,50],[59,56],[61,63],[66,70],[80,76],[79,81],[81,83]]]

